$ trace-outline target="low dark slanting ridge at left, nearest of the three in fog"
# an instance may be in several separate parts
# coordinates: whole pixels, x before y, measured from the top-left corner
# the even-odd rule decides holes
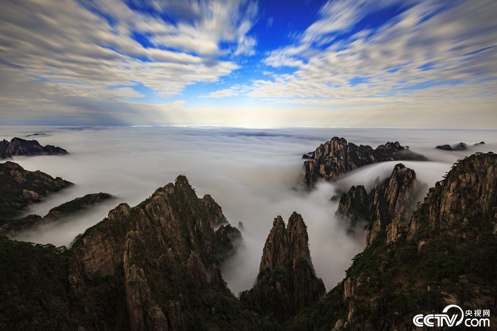
[[[8,221],[0,226],[0,235],[13,237],[22,231],[31,229],[39,224],[46,224],[53,221],[69,217],[74,213],[81,212],[91,206],[101,203],[107,199],[113,198],[108,193],[92,193],[86,194],[83,197],[76,198],[69,202],[63,203],[60,206],[50,209],[47,215],[41,217],[39,215],[28,215],[26,217]]]

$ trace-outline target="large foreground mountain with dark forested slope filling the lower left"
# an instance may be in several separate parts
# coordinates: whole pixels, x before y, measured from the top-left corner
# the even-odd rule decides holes
[[[112,209],[70,249],[0,236],[0,329],[274,330],[217,267],[236,238],[221,207],[184,176]]]

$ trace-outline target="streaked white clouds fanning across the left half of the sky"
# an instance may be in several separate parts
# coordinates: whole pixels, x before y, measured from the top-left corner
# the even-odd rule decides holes
[[[27,96],[24,107],[33,107],[24,90],[28,86],[36,90],[34,85],[45,90],[49,86],[46,80],[61,93],[43,97],[53,103],[61,99],[63,104],[72,95],[84,94],[93,98],[89,104],[106,94],[111,98],[105,100],[108,104],[140,96],[131,87],[115,88],[136,83],[169,97],[197,82],[216,82],[239,68],[233,60],[220,56],[253,53],[256,41],[247,35],[257,13],[252,2],[149,4],[160,10],[175,5],[175,10],[189,12],[191,19],[169,23],[157,15],[131,10],[120,0],[4,1],[0,12],[0,83],[4,87],[0,97],[16,98],[19,103]],[[134,32],[161,47],[142,46],[132,37]],[[229,43],[237,51],[221,49],[221,43]],[[7,80],[7,73],[16,79]],[[7,95],[8,85],[12,94]],[[90,88],[95,95],[87,94]]]

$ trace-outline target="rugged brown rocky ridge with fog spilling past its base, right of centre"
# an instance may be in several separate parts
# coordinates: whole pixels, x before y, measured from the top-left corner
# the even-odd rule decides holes
[[[397,160],[426,161],[422,155],[416,154],[399,142],[388,142],[376,149],[371,146],[347,143],[344,138],[333,137],[321,144],[309,160],[304,162],[304,183],[312,189],[319,180],[335,181],[345,172],[364,165],[377,162]]]

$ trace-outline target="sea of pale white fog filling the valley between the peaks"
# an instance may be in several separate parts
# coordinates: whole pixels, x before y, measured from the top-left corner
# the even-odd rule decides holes
[[[281,215],[286,222],[293,211],[302,214],[308,226],[314,266],[329,290],[343,278],[350,259],[365,245],[361,234],[346,235],[346,226],[334,215],[338,202],[331,202],[331,196],[355,184],[370,188],[376,177],[386,178],[397,164],[368,165],[336,183],[319,184],[307,192],[302,186],[301,157],[333,136],[373,148],[387,141],[409,146],[430,160],[403,162],[427,187],[442,179],[456,160],[497,150],[497,131],[493,130],[1,127],[0,139],[36,139],[42,145],[60,146],[71,153],[15,157],[13,161],[27,170],[41,170],[76,184],[31,205],[26,214],[45,215],[51,208],[87,193],[106,192],[117,197],[65,222],[39,226],[15,239],[67,246],[117,204],[134,206],[183,174],[199,197],[212,195],[232,225],[243,222],[243,243],[222,266],[223,276],[235,294],[252,286],[273,219]],[[473,146],[480,141],[486,144]],[[459,142],[468,144],[468,150],[434,149]]]

